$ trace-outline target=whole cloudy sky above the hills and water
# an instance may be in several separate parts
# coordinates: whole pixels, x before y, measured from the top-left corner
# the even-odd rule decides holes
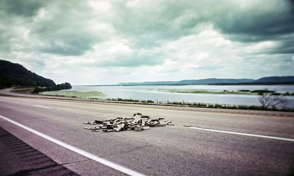
[[[294,75],[294,6],[0,0],[0,59],[72,85]]]

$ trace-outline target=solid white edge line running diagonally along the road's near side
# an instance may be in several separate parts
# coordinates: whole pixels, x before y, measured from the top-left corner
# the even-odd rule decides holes
[[[118,171],[121,171],[121,172],[123,172],[125,174],[128,174],[130,176],[145,176],[144,174],[140,174],[140,173],[138,173],[136,171],[130,170],[128,168],[125,168],[125,167],[123,167],[121,165],[115,164],[115,163],[113,163],[111,161],[108,161],[106,159],[100,158],[100,157],[98,157],[98,156],[96,156],[94,154],[90,154],[90,153],[88,153],[86,151],[83,151],[81,149],[78,149],[76,147],[73,147],[73,146],[71,146],[69,144],[66,144],[66,143],[64,143],[64,142],[62,142],[60,140],[57,140],[57,139],[55,139],[53,137],[50,137],[49,135],[46,135],[46,134],[43,134],[41,132],[38,132],[38,131],[36,131],[34,129],[31,129],[31,128],[23,125],[23,124],[20,124],[20,123],[18,123],[16,121],[13,121],[13,120],[11,120],[9,118],[6,118],[6,117],[2,116],[2,115],[0,115],[0,117],[2,119],[4,119],[4,120],[7,120],[8,122],[11,122],[11,123],[13,123],[13,124],[15,124],[15,125],[17,125],[19,127],[24,128],[25,130],[27,130],[29,132],[35,133],[35,134],[37,134],[37,135],[39,135],[39,136],[41,136],[41,137],[43,137],[45,139],[48,139],[49,141],[54,142],[55,144],[58,144],[58,145],[60,145],[60,146],[62,146],[64,148],[67,148],[67,149],[69,149],[69,150],[71,150],[71,151],[73,151],[73,152],[75,152],[77,154],[81,154],[83,156],[86,156],[86,157],[88,157],[90,159],[93,159],[93,160],[95,160],[95,161],[97,161],[97,162],[99,162],[101,164],[104,164],[104,165],[106,165],[108,167],[111,167],[113,169],[116,169]]]

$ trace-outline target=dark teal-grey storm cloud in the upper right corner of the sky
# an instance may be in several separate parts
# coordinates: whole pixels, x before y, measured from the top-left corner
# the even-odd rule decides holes
[[[268,1],[260,5],[267,6]],[[256,37],[254,41],[264,37],[276,35],[285,35],[294,32],[294,10],[290,0],[287,1],[271,1],[274,3],[275,9],[260,11],[256,7],[251,10],[239,11],[236,13],[225,13],[221,19],[216,19],[216,25],[221,31],[230,35],[251,35]],[[250,40],[250,38],[249,38]],[[246,40],[245,40],[246,41]]]

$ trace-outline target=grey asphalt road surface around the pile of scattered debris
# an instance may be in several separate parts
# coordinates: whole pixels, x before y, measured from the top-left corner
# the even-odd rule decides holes
[[[142,132],[83,129],[87,126],[83,121],[130,117],[136,112],[164,117],[176,125]],[[0,96],[2,117],[115,163],[106,166],[0,118],[3,129],[82,176],[126,175],[119,166],[149,176],[293,174],[294,118],[282,116],[293,113],[238,112]]]

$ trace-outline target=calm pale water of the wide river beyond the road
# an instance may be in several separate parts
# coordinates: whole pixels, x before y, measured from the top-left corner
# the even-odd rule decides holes
[[[256,90],[276,89],[277,92],[294,93],[293,85],[286,86],[208,86],[208,85],[191,85],[191,86],[93,86],[93,87],[73,87],[71,90],[78,91],[99,91],[106,94],[107,98],[132,98],[139,100],[153,100],[154,102],[201,102],[201,103],[218,103],[228,105],[260,105],[257,95],[225,95],[225,94],[193,94],[193,93],[170,93],[152,91],[150,89],[198,89],[198,90],[215,90],[215,91],[237,91],[240,89]],[[288,107],[294,108],[294,97],[287,97]]]

